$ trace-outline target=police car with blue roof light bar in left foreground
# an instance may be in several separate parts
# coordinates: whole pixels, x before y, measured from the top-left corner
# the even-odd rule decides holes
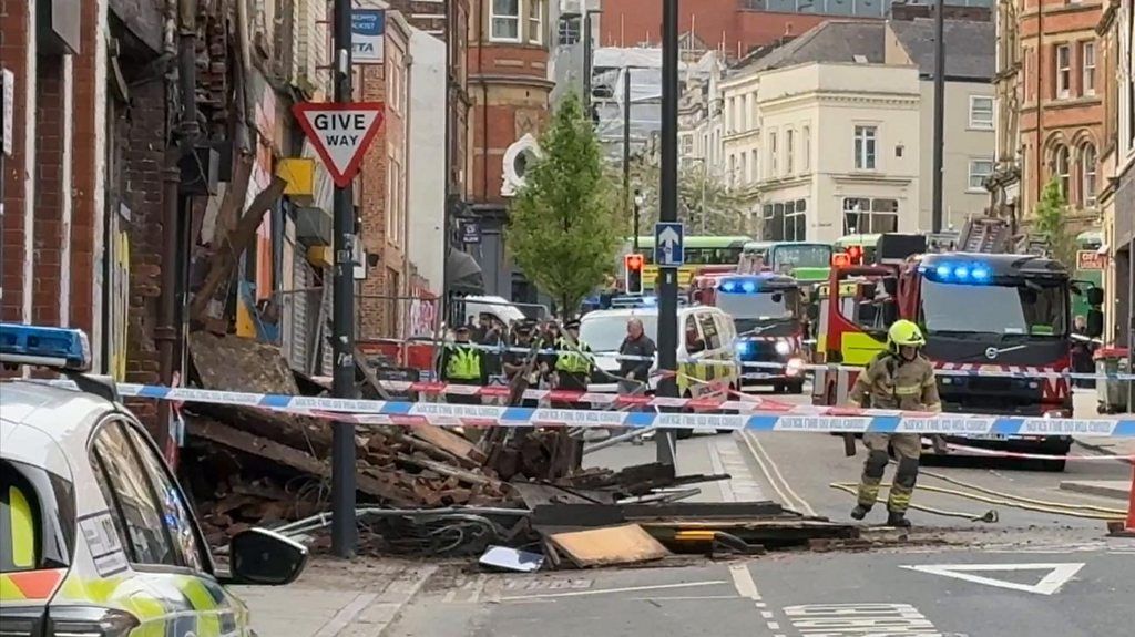
[[[288,584],[306,549],[254,528],[219,569],[114,382],[82,373],[82,331],[0,324],[0,363],[74,384],[0,384],[0,637],[253,635],[226,585]]]

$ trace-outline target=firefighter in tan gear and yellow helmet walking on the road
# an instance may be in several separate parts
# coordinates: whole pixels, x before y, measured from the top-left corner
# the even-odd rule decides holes
[[[910,321],[896,321],[886,334],[886,351],[880,353],[859,374],[851,388],[851,405],[876,409],[908,411],[941,411],[934,366],[919,354],[926,345],[922,330]],[[865,402],[869,399],[869,405]],[[863,442],[869,450],[859,482],[858,504],[851,517],[867,517],[878,496],[878,485],[889,460],[888,445],[894,449],[899,468],[894,473],[891,494],[886,501],[888,526],[909,527],[907,508],[918,479],[918,457],[922,436],[915,433],[868,433]]]

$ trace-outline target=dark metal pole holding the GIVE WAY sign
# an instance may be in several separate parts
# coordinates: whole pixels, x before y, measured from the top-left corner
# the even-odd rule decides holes
[[[351,102],[351,0],[335,0],[335,101]],[[335,355],[331,391],[336,398],[354,398],[354,239],[355,213],[352,186],[335,188],[335,287],[331,315]],[[354,557],[355,448],[354,425],[331,425],[331,550],[345,559]]]

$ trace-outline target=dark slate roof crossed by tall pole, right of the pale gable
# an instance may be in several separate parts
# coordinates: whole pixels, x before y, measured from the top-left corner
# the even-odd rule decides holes
[[[934,20],[889,23],[899,44],[923,76],[934,75]],[[997,31],[992,22],[945,20],[945,77],[990,80],[997,73]]]

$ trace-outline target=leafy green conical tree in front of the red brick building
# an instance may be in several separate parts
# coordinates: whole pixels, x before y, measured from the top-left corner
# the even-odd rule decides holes
[[[615,266],[622,243],[619,195],[579,97],[560,103],[508,210],[513,261],[566,315]]]

